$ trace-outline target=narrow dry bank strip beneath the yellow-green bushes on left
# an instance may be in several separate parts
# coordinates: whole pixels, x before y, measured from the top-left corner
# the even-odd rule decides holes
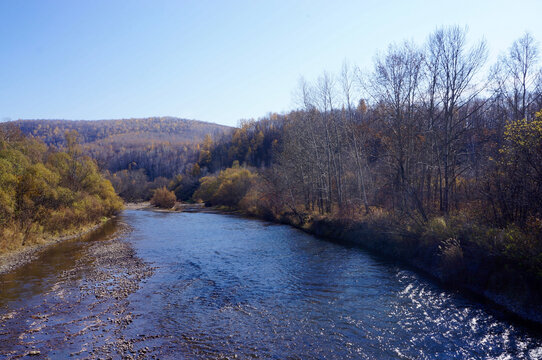
[[[68,241],[88,235],[94,231],[102,228],[107,222],[112,221],[113,218],[108,218],[100,221],[97,224],[87,225],[80,229],[75,230],[73,233],[63,235],[63,236],[50,236],[44,239],[41,239],[36,244],[27,245],[25,247],[0,254],[0,274],[8,273],[21,267],[29,262],[35,260],[40,252],[51,247],[52,245],[58,244],[63,241]]]

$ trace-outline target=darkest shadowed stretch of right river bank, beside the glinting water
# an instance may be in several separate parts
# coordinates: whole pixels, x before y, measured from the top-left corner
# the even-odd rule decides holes
[[[386,231],[367,223],[342,223],[321,219],[289,223],[310,234],[361,246],[429,274],[442,284],[471,292],[523,320],[542,324],[540,278],[522,272],[494,254],[484,252],[469,239],[442,239],[427,243],[408,232]],[[471,247],[465,252],[465,247]]]

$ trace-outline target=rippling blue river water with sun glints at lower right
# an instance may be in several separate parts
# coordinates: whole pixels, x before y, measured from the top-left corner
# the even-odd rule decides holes
[[[89,351],[92,344],[144,336],[132,349],[134,357],[542,358],[537,329],[357,248],[284,225],[219,214],[125,211],[121,221],[132,228],[123,241],[153,273],[123,300],[129,322],[117,327],[110,340],[75,338],[73,349],[83,341]],[[47,307],[56,304],[51,289],[59,282],[65,291],[77,291],[92,269],[86,249],[95,241],[59,245],[32,265],[44,263],[33,275],[27,269],[0,277],[0,319],[19,314],[4,315],[12,322],[5,320],[3,329],[24,327],[38,309],[40,314],[54,312]],[[81,274],[67,282],[63,276],[77,259],[86,259],[86,266],[74,268]],[[59,262],[63,265],[52,265]],[[83,299],[70,316],[95,316],[91,305]],[[35,310],[21,315],[29,308]],[[95,316],[97,324],[113,311],[104,309]],[[66,316],[62,321],[68,324]],[[62,339],[49,341],[55,336],[54,326],[50,329],[24,344],[15,339],[21,329],[0,332],[0,349],[4,341],[5,349],[12,350],[5,355],[24,346],[51,358],[67,354],[59,350],[69,347]],[[100,331],[112,333],[110,327]],[[138,352],[143,346],[148,350]],[[85,351],[80,354],[92,357]]]

